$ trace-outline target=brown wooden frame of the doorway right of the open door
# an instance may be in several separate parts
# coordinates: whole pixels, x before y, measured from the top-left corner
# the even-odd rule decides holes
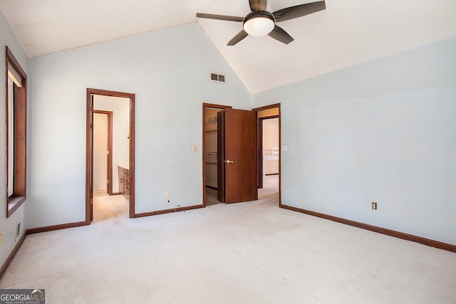
[[[260,111],[263,111],[263,110],[269,110],[269,109],[274,109],[274,108],[278,108],[279,109],[279,115],[257,118],[257,120],[258,120],[258,157],[259,157],[258,158],[258,181],[259,181],[258,182],[259,183],[258,187],[260,186],[260,181],[261,181],[261,188],[263,187],[263,165],[262,165],[262,163],[263,163],[263,125],[262,125],[262,121],[265,120],[265,119],[279,118],[279,206],[281,206],[281,204],[282,204],[281,203],[281,197],[282,197],[281,196],[281,178],[282,178],[281,159],[282,159],[282,156],[281,156],[281,112],[280,112],[280,103],[274,103],[273,105],[265,105],[264,107],[254,108],[252,110],[260,112]],[[260,124],[261,124],[261,130],[260,130]]]

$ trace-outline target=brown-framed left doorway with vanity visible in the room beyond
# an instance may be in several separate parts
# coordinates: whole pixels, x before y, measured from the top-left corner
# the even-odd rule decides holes
[[[93,220],[94,194],[125,196],[133,218],[135,95],[88,88],[86,103],[86,224]]]

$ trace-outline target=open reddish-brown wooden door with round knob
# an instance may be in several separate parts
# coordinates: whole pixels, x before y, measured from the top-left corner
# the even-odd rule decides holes
[[[257,112],[217,113],[217,158],[217,199],[226,204],[257,200]]]

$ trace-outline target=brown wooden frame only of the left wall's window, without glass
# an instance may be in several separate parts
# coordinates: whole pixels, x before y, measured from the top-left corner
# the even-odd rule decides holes
[[[19,62],[14,57],[13,53],[6,46],[6,187],[9,185],[9,85],[8,71],[9,67],[13,68],[17,74],[21,76],[21,85],[13,85],[13,103],[14,103],[14,127],[12,135],[14,137],[14,172],[13,172],[13,194],[9,196],[9,191],[6,191],[6,217],[11,216],[19,206],[26,201],[26,163],[27,163],[27,75],[19,65]]]

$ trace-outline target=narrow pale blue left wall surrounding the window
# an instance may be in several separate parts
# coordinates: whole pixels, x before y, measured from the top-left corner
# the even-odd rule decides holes
[[[19,241],[20,237],[24,234],[26,228],[26,204],[27,201],[17,209],[13,215],[6,219],[6,67],[5,67],[5,49],[8,46],[11,52],[14,54],[14,58],[19,62],[21,68],[27,73],[27,58],[22,51],[19,42],[11,31],[9,24],[6,22],[5,17],[0,11],[0,231],[4,231],[4,243],[0,246],[0,266],[3,265],[9,253],[16,246],[16,241]],[[28,98],[28,109],[30,109],[30,102]],[[28,122],[30,119],[28,119]],[[28,127],[28,134],[30,134],[30,127]],[[27,157],[30,159],[30,145],[27,145]],[[30,172],[28,168],[28,172]],[[29,174],[28,174],[29,175]],[[27,184],[30,185],[30,179],[27,180]],[[28,186],[28,193],[30,187]],[[28,194],[29,195],[29,194]],[[16,223],[21,221],[21,235],[16,239]]]

